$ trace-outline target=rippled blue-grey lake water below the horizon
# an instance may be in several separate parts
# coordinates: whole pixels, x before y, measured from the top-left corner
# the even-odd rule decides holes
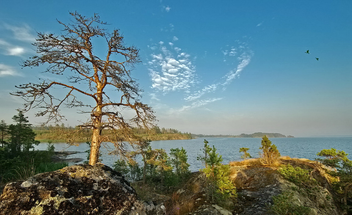
[[[210,147],[215,145],[219,155],[222,155],[224,161],[223,164],[228,164],[230,161],[240,160],[241,153],[238,152],[239,148],[246,147],[250,148],[248,151],[252,157],[258,157],[259,147],[261,138],[205,138],[209,142]],[[348,155],[349,159],[352,159],[352,137],[337,138],[316,138],[316,137],[296,137],[296,138],[269,138],[270,141],[277,146],[277,149],[282,156],[290,156],[293,158],[308,158],[314,160],[318,156],[316,153],[322,149],[335,148],[337,150],[344,150]],[[201,151],[200,149],[204,146],[204,138],[187,139],[187,140],[166,140],[166,141],[152,141],[151,146],[153,149],[163,148],[166,152],[170,152],[171,148],[183,147],[187,151],[188,163],[190,164],[191,171],[198,171],[203,168],[200,161],[197,161],[197,154]],[[112,144],[106,144],[107,147],[112,147]],[[84,151],[88,150],[87,144],[82,142],[78,146],[70,146],[67,148],[67,144],[63,142],[54,142],[55,150],[65,151],[78,151],[80,153],[69,155],[67,158],[83,158],[86,160],[87,153]],[[66,149],[65,149],[66,148]],[[40,143],[35,149],[45,150],[46,143]],[[118,159],[117,156],[108,155],[107,148],[102,147],[102,159],[103,164],[112,167],[113,163]],[[140,158],[137,159],[141,162]],[[80,162],[83,163],[83,162]],[[70,163],[73,164],[73,163]]]

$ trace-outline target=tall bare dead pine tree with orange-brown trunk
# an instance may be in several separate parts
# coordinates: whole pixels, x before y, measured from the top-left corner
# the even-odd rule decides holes
[[[123,141],[132,146],[138,144],[132,128],[151,128],[155,116],[150,106],[140,102],[142,89],[131,77],[134,66],[141,63],[139,50],[127,46],[118,29],[106,30],[104,27],[108,24],[98,14],[85,17],[73,12],[70,15],[69,24],[57,20],[63,26],[60,34],[37,33],[33,43],[37,55],[21,62],[23,67],[47,66],[42,72],[64,75],[67,80],[39,78],[38,83],[15,86],[18,90],[11,94],[25,100],[22,111],[39,109],[35,116],[46,117],[45,123],[64,120],[60,108],[90,113],[87,122],[79,127],[93,131],[89,164],[94,165],[102,142],[114,143],[114,154],[128,155]],[[94,47],[101,49],[103,44],[106,52],[98,57]],[[83,102],[79,97],[88,97],[90,102]],[[134,116],[125,118],[128,110],[128,115],[132,110]],[[109,135],[102,135],[105,130],[110,130],[106,132]]]

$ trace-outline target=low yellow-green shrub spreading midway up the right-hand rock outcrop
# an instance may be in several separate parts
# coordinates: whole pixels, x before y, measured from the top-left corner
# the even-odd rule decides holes
[[[316,180],[309,175],[309,171],[292,165],[282,165],[277,170],[286,180],[296,184],[298,187],[309,188],[317,185]]]

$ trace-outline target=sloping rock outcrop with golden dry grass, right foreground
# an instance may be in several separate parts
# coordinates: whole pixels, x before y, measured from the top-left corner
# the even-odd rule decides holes
[[[337,202],[334,202],[334,190],[320,164],[308,159],[283,159],[279,163],[309,170],[316,184],[309,189],[299,187],[279,174],[277,170],[280,166],[266,167],[260,164],[232,166],[231,178],[238,191],[233,214],[271,214],[272,197],[287,193],[290,193],[288,202],[291,206],[307,207],[310,215],[344,214]]]

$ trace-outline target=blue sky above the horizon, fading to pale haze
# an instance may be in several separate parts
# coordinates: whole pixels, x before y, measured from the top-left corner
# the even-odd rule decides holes
[[[69,11],[99,13],[140,49],[132,76],[160,127],[352,135],[352,2],[342,0],[2,2],[0,119],[11,123],[21,107],[14,85],[46,77],[19,66],[34,54],[36,31],[59,33],[56,19],[69,22]],[[63,112],[69,125],[87,117]]]

